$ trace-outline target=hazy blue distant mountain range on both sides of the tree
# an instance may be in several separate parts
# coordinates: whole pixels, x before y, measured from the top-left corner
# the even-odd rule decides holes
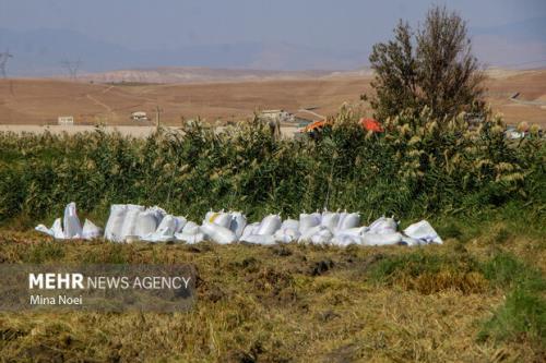
[[[497,66],[538,68],[546,65],[546,19],[537,17],[499,26],[472,24],[470,34],[478,59]],[[364,41],[364,40],[363,40]],[[289,43],[233,43],[216,45],[180,45],[176,49],[129,49],[122,45],[97,40],[70,29],[40,28],[11,31],[0,27],[0,51],[13,55],[8,63],[9,76],[60,76],[68,74],[63,60],[81,60],[81,74],[105,73],[103,77],[131,80],[206,81],[216,75],[204,69],[222,70],[232,78],[238,70],[254,70],[237,77],[292,76],[274,72],[358,70],[368,64],[370,45],[355,44],[354,49],[320,49]],[[191,68],[191,72],[171,68]],[[151,71],[153,69],[153,71]],[[201,69],[198,70],[198,69]],[[130,70],[115,71],[111,70]],[[234,70],[233,73],[227,70]],[[273,73],[259,73],[258,71]],[[124,73],[123,73],[124,72]],[[209,71],[207,71],[209,72]],[[190,74],[191,73],[191,74]],[[229,73],[229,74],[228,74]],[[259,73],[259,74],[258,74]],[[150,81],[158,82],[158,81]]]

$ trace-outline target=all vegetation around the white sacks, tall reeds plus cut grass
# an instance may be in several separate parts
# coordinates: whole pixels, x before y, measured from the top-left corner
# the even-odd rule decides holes
[[[343,107],[319,141],[276,140],[259,122],[199,123],[146,140],[97,129],[0,134],[3,263],[190,263],[187,313],[0,313],[0,355],[22,361],[542,361],[545,346],[545,144],[510,142],[499,118],[439,130],[425,108],[365,134]],[[50,241],[38,220],[75,201],[105,220],[112,203],[200,220],[328,206],[403,225],[428,218],[426,249]],[[10,231],[11,230],[11,231]],[[506,299],[505,299],[506,297]]]

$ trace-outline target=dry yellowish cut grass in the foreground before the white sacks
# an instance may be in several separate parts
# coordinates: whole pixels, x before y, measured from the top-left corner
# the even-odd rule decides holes
[[[478,267],[489,258],[498,228],[422,250],[120,245],[4,232],[4,263],[194,264],[199,298],[189,313],[1,313],[0,355],[43,362],[541,361],[546,352],[531,340],[477,341],[508,291]],[[535,264],[546,256],[543,240],[510,235],[495,249],[519,253],[524,241]],[[396,258],[422,264],[373,278],[381,264]]]

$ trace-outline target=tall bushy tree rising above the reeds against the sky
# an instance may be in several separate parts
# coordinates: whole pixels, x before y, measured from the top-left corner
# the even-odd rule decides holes
[[[432,7],[416,32],[400,21],[394,38],[376,44],[369,60],[376,73],[370,101],[380,119],[425,106],[439,119],[484,107],[484,73],[466,22],[444,7]]]

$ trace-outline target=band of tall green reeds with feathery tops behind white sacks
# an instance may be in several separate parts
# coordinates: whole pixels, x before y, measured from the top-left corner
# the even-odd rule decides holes
[[[210,208],[268,213],[347,208],[367,219],[476,215],[509,203],[544,217],[546,145],[503,136],[499,118],[468,130],[460,116],[403,112],[364,134],[343,107],[320,141],[275,140],[257,121],[222,133],[188,123],[146,140],[100,129],[69,135],[0,134],[0,221],[35,223],[68,202],[95,220],[110,204],[159,205],[200,220]]]

